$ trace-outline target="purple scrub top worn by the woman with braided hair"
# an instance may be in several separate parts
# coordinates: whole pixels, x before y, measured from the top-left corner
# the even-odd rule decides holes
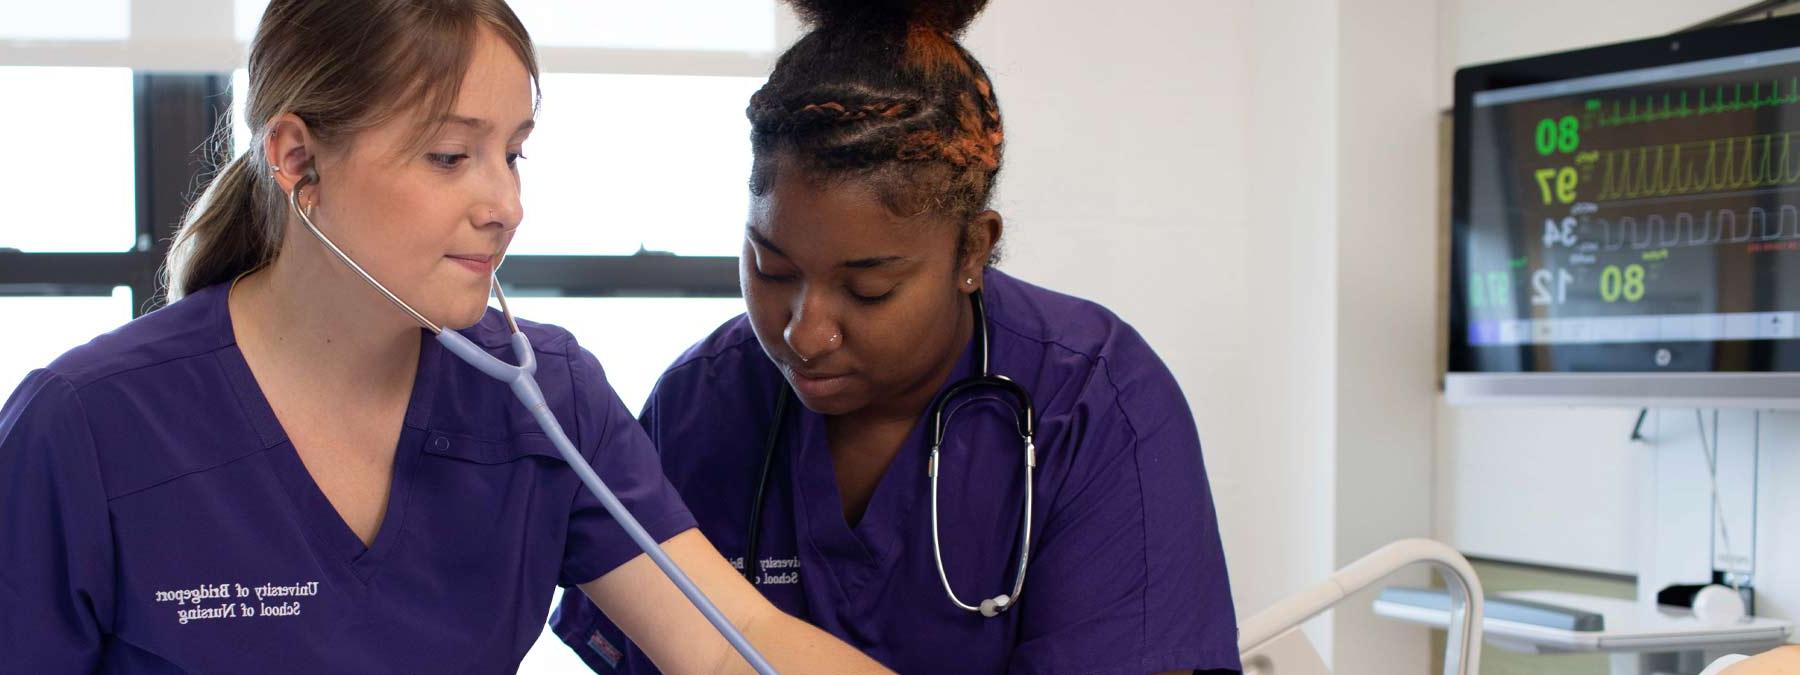
[[[950,603],[931,545],[922,418],[851,527],[824,418],[797,400],[763,508],[758,589],[900,673],[1238,670],[1237,621],[1186,398],[1143,337],[1105,308],[985,275],[994,373],[1031,392],[1037,477],[1019,605]],[[965,349],[950,382],[972,374]],[[742,567],[781,374],[745,317],[675,362],[641,423],[700,531]],[[1024,500],[1021,439],[997,398],[950,405],[941,459],[943,562],[967,603],[1012,590]],[[553,625],[599,673],[653,664],[594,607]]]

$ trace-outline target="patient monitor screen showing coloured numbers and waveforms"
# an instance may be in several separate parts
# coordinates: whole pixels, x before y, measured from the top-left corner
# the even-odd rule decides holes
[[[1472,94],[1472,371],[1800,371],[1800,49]]]

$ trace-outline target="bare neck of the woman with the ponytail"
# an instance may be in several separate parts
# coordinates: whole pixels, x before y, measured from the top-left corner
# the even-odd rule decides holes
[[[281,256],[238,279],[229,302],[247,358],[353,400],[410,389],[419,326],[338,261]]]

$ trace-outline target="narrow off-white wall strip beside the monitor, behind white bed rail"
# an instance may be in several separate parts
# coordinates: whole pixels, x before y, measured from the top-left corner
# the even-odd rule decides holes
[[[1341,16],[1334,565],[1431,535],[1438,373],[1436,2],[1355,0]],[[1426,632],[1377,619],[1375,592],[1336,614],[1336,670],[1426,671]]]

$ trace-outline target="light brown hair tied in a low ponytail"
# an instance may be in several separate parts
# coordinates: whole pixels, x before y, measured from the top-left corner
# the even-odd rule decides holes
[[[331,146],[423,110],[423,144],[455,104],[479,29],[500,36],[538,79],[531,36],[504,0],[274,0],[250,43],[250,149],[230,157],[184,218],[164,261],[169,301],[268,265],[281,250],[286,194],[263,157],[268,122],[293,113]]]

